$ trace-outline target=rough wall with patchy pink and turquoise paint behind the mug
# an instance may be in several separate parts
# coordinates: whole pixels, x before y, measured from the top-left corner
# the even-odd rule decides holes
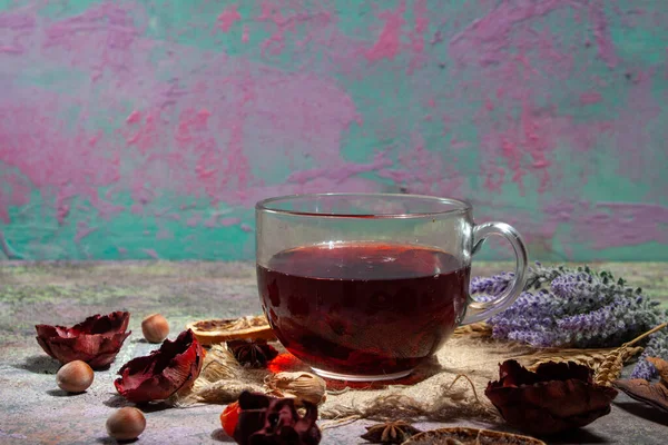
[[[668,259],[668,2],[0,0],[0,258],[253,255],[253,204],[464,197]]]

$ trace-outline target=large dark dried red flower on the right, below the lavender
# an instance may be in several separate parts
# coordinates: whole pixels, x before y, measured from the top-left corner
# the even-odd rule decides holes
[[[590,424],[610,413],[615,388],[593,384],[593,370],[573,362],[541,364],[536,373],[515,360],[499,366],[484,394],[510,425],[549,435]]]

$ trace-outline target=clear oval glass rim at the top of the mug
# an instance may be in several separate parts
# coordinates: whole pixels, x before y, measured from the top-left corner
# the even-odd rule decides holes
[[[405,214],[318,214],[312,211],[301,211],[301,210],[286,210],[279,208],[271,208],[272,204],[277,204],[281,201],[291,201],[298,199],[314,199],[321,197],[334,197],[334,198],[395,198],[395,199],[423,199],[430,200],[433,202],[443,204],[450,208],[443,210],[434,210],[434,211],[421,211],[421,212],[405,212]],[[383,219],[383,218],[426,218],[433,216],[442,216],[442,215],[456,215],[456,214],[465,214],[472,209],[470,202],[463,199],[454,199],[454,198],[441,198],[436,196],[429,195],[412,195],[412,194],[363,194],[363,192],[331,192],[331,194],[301,194],[301,195],[284,195],[276,196],[272,198],[266,198],[257,201],[255,204],[256,211],[263,211],[275,215],[289,215],[289,216],[299,216],[299,217],[315,217],[315,218],[364,218],[364,219]]]

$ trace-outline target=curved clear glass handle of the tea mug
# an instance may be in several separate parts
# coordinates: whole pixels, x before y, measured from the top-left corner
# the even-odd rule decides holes
[[[524,289],[527,275],[527,248],[520,234],[505,222],[484,222],[473,227],[473,249],[471,255],[475,255],[484,240],[491,235],[499,235],[505,238],[512,246],[515,254],[515,271],[514,279],[500,295],[495,296],[490,301],[469,303],[466,316],[462,320],[462,325],[470,323],[482,322],[491,316],[507,309]]]

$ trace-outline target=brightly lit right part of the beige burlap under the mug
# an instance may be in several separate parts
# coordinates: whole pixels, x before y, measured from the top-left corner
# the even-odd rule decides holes
[[[433,360],[407,377],[418,382],[328,395],[321,407],[321,417],[490,419],[497,416],[497,412],[484,396],[484,389],[490,379],[498,379],[499,363],[532,352],[528,347],[488,338],[455,336],[436,353]]]

